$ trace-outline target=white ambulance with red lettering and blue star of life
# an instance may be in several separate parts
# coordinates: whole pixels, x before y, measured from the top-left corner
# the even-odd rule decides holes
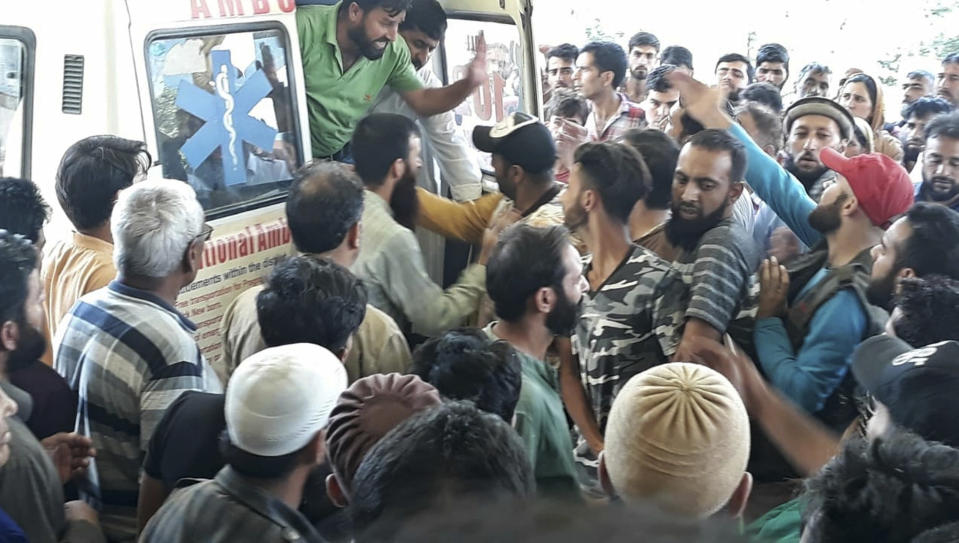
[[[56,241],[71,230],[54,189],[67,147],[95,134],[145,141],[151,177],[189,182],[215,228],[177,305],[218,369],[223,310],[292,252],[282,202],[310,142],[296,3],[18,1],[0,20],[0,176],[40,186]],[[437,75],[458,78],[478,33],[489,46],[489,84],[456,109],[462,129],[517,109],[537,114],[531,0],[440,3],[450,20]]]

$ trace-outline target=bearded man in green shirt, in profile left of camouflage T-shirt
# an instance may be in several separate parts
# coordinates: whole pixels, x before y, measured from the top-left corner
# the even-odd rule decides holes
[[[555,336],[571,333],[587,288],[579,253],[562,226],[510,228],[487,264],[486,289],[500,321],[486,333],[520,354],[522,385],[513,425],[540,492],[552,497],[576,498],[578,486],[559,378],[543,360]]]

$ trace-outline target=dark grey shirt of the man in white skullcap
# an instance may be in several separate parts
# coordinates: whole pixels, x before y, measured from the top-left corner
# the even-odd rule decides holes
[[[142,543],[321,543],[302,514],[227,466],[216,478],[173,493],[150,519]]]

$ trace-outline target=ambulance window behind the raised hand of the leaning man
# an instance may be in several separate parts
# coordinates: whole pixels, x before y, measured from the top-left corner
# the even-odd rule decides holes
[[[463,77],[466,66],[473,60],[473,44],[480,32],[486,37],[489,82],[480,85],[471,97],[453,110],[456,123],[470,145],[474,126],[495,124],[510,113],[524,110],[523,49],[519,30],[512,23],[451,17],[445,41],[447,81]],[[490,155],[479,153],[479,156],[483,169],[492,171]]]

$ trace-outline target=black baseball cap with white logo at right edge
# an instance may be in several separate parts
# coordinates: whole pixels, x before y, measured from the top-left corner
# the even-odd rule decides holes
[[[899,338],[867,339],[853,355],[859,383],[889,410],[892,421],[926,440],[959,447],[959,342],[914,349]]]

